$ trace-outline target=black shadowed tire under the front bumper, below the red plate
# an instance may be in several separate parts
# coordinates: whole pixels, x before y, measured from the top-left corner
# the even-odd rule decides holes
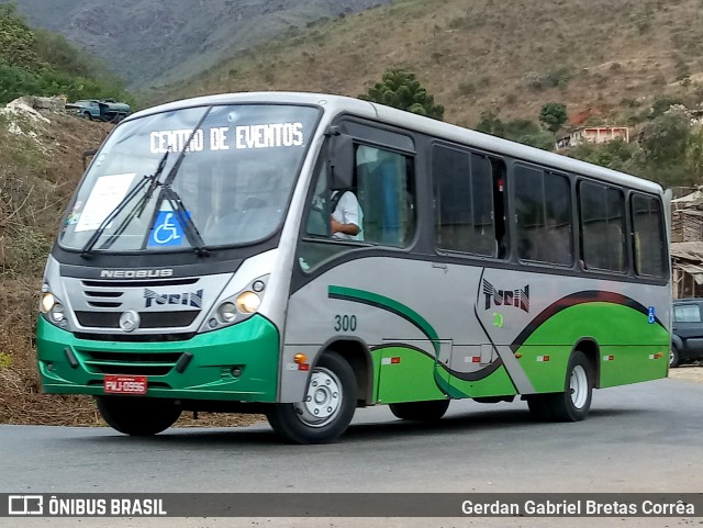
[[[134,396],[96,396],[98,411],[114,430],[131,436],[152,436],[172,426],[180,407],[170,400]]]

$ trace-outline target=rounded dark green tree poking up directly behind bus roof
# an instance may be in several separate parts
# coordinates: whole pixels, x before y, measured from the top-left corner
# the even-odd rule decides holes
[[[420,85],[415,74],[399,67],[386,70],[380,82],[359,96],[359,99],[406,110],[436,120],[444,119],[444,106],[435,104],[435,98]]]

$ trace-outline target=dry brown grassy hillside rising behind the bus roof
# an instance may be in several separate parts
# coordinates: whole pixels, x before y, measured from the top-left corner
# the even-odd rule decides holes
[[[626,122],[657,93],[701,93],[701,2],[400,0],[236,54],[154,100],[272,89],[357,96],[391,65],[414,70],[445,120],[461,125],[489,110],[536,120],[547,101]]]

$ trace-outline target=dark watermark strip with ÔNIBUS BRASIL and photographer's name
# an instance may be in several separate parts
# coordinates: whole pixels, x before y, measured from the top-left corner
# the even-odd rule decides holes
[[[703,493],[0,494],[0,517],[703,517]]]

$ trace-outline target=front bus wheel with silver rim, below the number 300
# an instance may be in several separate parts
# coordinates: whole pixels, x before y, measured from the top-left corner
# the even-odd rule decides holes
[[[325,352],[312,370],[305,400],[274,405],[266,417],[290,443],[327,443],[347,429],[356,409],[357,386],[349,363]]]

